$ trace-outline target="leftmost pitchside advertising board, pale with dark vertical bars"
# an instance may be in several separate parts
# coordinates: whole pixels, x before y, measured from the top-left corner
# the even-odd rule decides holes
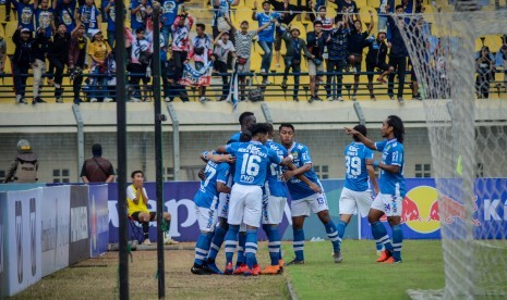
[[[2,193],[1,296],[12,296],[41,278],[43,189]]]

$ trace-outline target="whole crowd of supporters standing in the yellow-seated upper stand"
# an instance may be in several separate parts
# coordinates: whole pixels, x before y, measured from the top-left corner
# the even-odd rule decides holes
[[[64,72],[68,72],[72,83],[74,103],[83,101],[83,92],[89,102],[114,101],[116,49],[128,50],[130,101],[149,101],[150,88],[146,87],[150,87],[155,26],[152,1],[158,0],[131,0],[128,8],[130,26],[124,29],[125,45],[117,47],[113,0],[101,0],[100,5],[94,0],[53,0],[52,3],[49,0],[7,0],[5,21],[10,21],[12,9],[17,15],[17,29],[12,36],[15,51],[10,58],[16,103],[28,102],[25,88],[29,70],[34,77],[31,99],[34,104],[46,102],[41,99],[45,77],[48,78],[48,85],[55,87],[56,102],[63,102]],[[158,24],[161,32],[159,54],[162,62],[162,96],[168,102],[174,98],[189,101],[188,87],[182,77],[186,73],[195,74],[196,77],[204,76],[208,70],[221,77],[218,101],[230,98],[233,71],[239,73],[239,100],[246,100],[246,74],[252,71],[255,39],[258,49],[262,49],[262,86],[271,84],[268,75],[273,58],[276,67],[280,67],[280,57],[283,57],[281,87],[287,89],[291,85],[294,101],[300,100],[300,76],[306,76],[301,74],[302,61],[305,60],[311,102],[323,101],[319,97],[321,85],[324,85],[324,91],[321,91],[323,98],[343,101],[342,77],[346,71],[353,76],[352,100],[358,99],[360,75],[365,71],[372,100],[376,99],[374,84],[381,87],[385,84],[388,97],[403,102],[405,78],[410,71],[410,60],[400,28],[410,26],[411,30],[419,30],[413,34],[414,37],[431,37],[430,25],[422,16],[424,8],[421,0],[403,0],[396,7],[394,0],[379,0],[376,12],[369,10],[369,20],[361,20],[358,4],[353,0],[299,0],[297,4],[289,0],[262,3],[246,1],[244,5],[252,10],[252,14],[249,20],[239,22],[232,22],[231,8],[240,4],[240,0],[210,0],[214,8],[212,35],[206,33],[204,23],[196,22],[185,10],[184,1],[188,0],[159,0],[162,13]],[[305,3],[301,3],[303,1]],[[327,2],[337,5],[336,12],[328,11]],[[306,36],[301,35],[303,28],[293,25],[294,18],[302,13],[312,24]],[[376,24],[374,13],[378,20]],[[409,21],[403,17],[408,13],[421,14],[421,17]],[[102,22],[107,26],[102,26]],[[252,26],[254,23],[257,26]],[[282,43],[286,49],[283,55],[280,51]],[[435,45],[433,52],[444,58],[444,50],[438,48],[439,41]],[[7,63],[5,47],[5,41],[0,39],[2,73]],[[367,51],[363,58],[364,48]],[[504,40],[496,58],[487,47],[478,53],[479,98],[488,97],[495,65],[503,66],[507,61],[505,49],[507,41]],[[363,60],[366,70],[361,70]],[[445,61],[436,64],[439,66],[436,72],[442,73],[439,77],[445,78]],[[86,76],[83,75],[85,70],[88,71]],[[412,96],[420,100],[418,79],[411,73]],[[293,80],[288,80],[290,76]],[[398,78],[397,86],[395,76]],[[85,78],[86,84],[83,84]],[[209,83],[193,84],[197,86],[198,100],[208,101],[206,86]]]

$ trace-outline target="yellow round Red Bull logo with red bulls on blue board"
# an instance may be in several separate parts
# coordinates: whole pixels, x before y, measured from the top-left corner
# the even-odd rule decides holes
[[[442,203],[442,210],[438,205]],[[475,197],[476,200],[476,197]],[[473,212],[478,211],[474,202]],[[431,234],[440,228],[440,222],[451,224],[456,220],[466,218],[466,207],[447,196],[439,196],[434,187],[419,186],[407,192],[401,208],[401,223],[420,234]],[[384,215],[381,221],[386,222]],[[479,220],[473,220],[475,226],[481,225]]]

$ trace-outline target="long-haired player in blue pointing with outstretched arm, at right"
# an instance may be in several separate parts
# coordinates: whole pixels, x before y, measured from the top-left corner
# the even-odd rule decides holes
[[[389,115],[382,124],[383,141],[373,142],[360,132],[345,128],[346,133],[358,137],[367,148],[382,152],[382,162],[366,160],[366,164],[381,168],[381,192],[373,200],[367,218],[372,225],[372,234],[376,242],[384,243],[386,250],[377,262],[400,263],[401,243],[403,232],[401,230],[401,205],[406,193],[403,178],[403,122],[397,115]],[[386,227],[381,222],[381,216],[386,214],[393,228],[393,242],[389,240]]]

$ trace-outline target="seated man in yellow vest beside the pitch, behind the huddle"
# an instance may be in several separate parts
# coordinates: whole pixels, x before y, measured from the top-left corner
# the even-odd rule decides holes
[[[144,174],[142,171],[132,172],[132,185],[126,188],[126,207],[129,208],[129,216],[143,225],[144,241],[143,245],[152,245],[148,237],[149,222],[157,220],[157,213],[148,210],[148,197],[144,188]],[[171,223],[171,215],[164,212],[164,220],[168,224]],[[178,241],[172,240],[169,236],[169,226],[167,232],[164,233],[164,242],[168,245],[176,245]]]

